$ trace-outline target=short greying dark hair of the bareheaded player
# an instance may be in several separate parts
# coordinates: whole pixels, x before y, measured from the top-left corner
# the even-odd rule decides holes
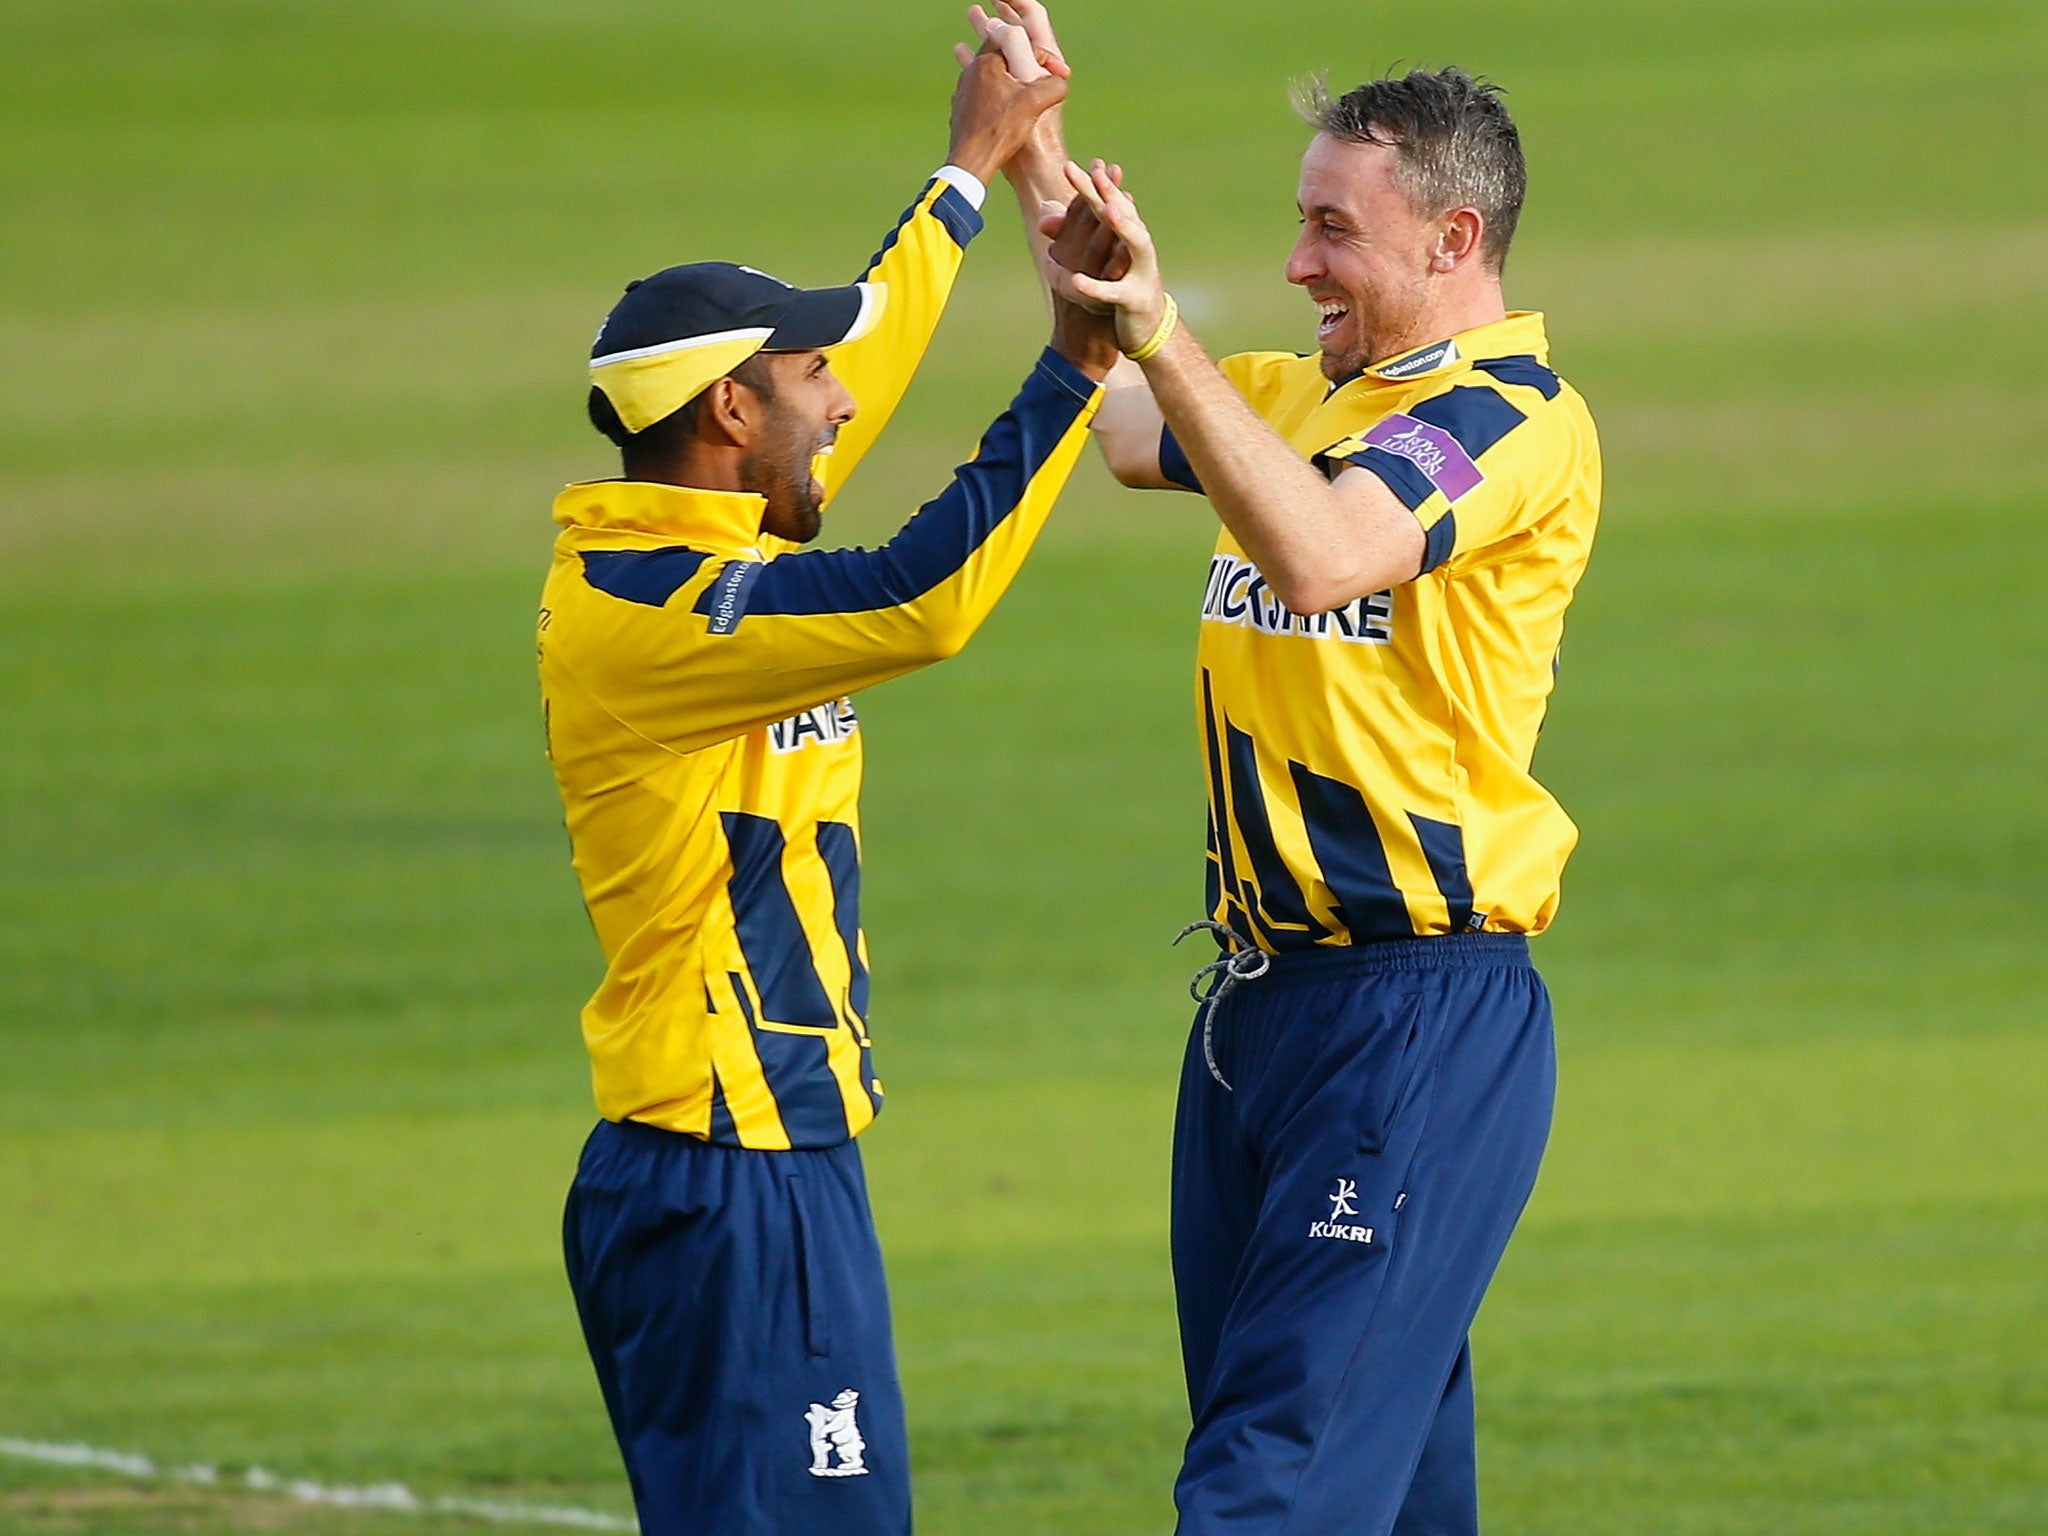
[[[1479,209],[1487,221],[1481,252],[1499,270],[1528,195],[1522,135],[1503,94],[1491,80],[1450,66],[1368,80],[1331,100],[1329,78],[1315,74],[1294,82],[1294,111],[1333,139],[1395,150],[1395,184],[1417,213]]]

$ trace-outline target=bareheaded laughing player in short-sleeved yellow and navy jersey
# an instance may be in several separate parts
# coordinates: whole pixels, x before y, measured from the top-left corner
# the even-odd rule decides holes
[[[999,10],[985,35],[1057,53],[1040,4]],[[1548,1137],[1528,936],[1577,840],[1530,760],[1599,449],[1542,315],[1503,303],[1526,172],[1499,90],[1413,72],[1300,104],[1307,356],[1210,362],[1120,172],[1063,166],[1051,123],[1010,174],[1053,205],[1055,262],[1079,252],[1055,291],[1116,311],[1110,467],[1223,520],[1196,662],[1223,952],[1174,1147],[1180,1532],[1470,1536],[1466,1333]],[[1069,184],[1087,207],[1061,215]]]

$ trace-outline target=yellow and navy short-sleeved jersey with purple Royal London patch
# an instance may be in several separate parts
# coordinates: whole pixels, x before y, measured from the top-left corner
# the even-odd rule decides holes
[[[1208,909],[1266,950],[1542,932],[1579,838],[1530,758],[1599,518],[1599,442],[1511,313],[1335,389],[1315,356],[1223,360],[1331,479],[1378,475],[1423,573],[1288,612],[1231,535],[1202,596]],[[1171,432],[1161,467],[1200,483]]]

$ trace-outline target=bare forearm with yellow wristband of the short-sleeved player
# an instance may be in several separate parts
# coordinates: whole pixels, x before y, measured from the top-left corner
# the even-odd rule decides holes
[[[1210,506],[1280,602],[1313,614],[1399,580],[1378,569],[1380,551],[1329,481],[1260,420],[1186,326],[1143,367]]]

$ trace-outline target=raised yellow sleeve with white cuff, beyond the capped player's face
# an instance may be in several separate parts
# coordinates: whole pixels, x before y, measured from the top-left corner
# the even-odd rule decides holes
[[[846,485],[848,475],[883,434],[903,401],[924,352],[932,344],[961,276],[969,242],[981,233],[981,211],[967,201],[946,174],[926,182],[883,248],[860,274],[860,283],[889,289],[883,317],[858,342],[831,348],[831,371],[860,408],[840,430],[834,453],[817,463],[825,506]]]

